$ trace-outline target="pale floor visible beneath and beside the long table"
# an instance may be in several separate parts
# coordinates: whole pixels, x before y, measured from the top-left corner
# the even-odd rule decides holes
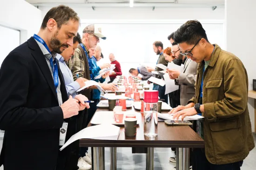
[[[254,135],[256,141],[256,135]],[[0,139],[0,150],[3,140]],[[20,153],[19,153],[20,154]],[[21,156],[21,154],[20,154]],[[169,162],[169,157],[174,156],[174,152],[169,148],[155,148],[155,168],[154,170],[172,170],[175,163]],[[105,149],[105,169],[110,170],[110,150]],[[145,170],[145,154],[132,154],[131,148],[117,148],[117,170]],[[250,151],[249,156],[244,160],[241,170],[255,170],[256,168],[256,148]],[[3,170],[3,166],[0,167]]]

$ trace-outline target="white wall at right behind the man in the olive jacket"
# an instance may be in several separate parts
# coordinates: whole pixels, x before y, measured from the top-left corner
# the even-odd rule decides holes
[[[254,22],[256,0],[225,0],[225,6],[227,50],[243,62],[249,77],[249,90],[251,90],[252,79],[256,79],[256,54],[253,52],[256,40]],[[254,101],[251,98],[248,100],[248,107],[254,132]]]

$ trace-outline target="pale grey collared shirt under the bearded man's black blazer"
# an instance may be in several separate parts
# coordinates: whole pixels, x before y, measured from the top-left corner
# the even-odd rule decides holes
[[[52,67],[51,67],[51,64],[50,64],[50,59],[53,57],[53,61],[54,61],[57,53],[55,53],[53,51],[52,54],[50,54],[49,51],[45,48],[45,46],[43,44],[41,44],[36,39],[35,39],[35,41],[37,42],[37,44],[39,45],[41,51],[43,52],[43,55],[44,55],[44,57],[46,59],[46,62],[47,62],[48,67],[49,67],[49,69],[51,71],[52,77],[54,79],[53,70],[52,70]],[[62,96],[61,96],[61,81],[60,81],[60,77],[59,77],[59,84],[58,84],[58,87],[57,87],[56,90],[57,90],[57,97],[58,97],[58,101],[59,101],[59,106],[61,106],[62,105]]]

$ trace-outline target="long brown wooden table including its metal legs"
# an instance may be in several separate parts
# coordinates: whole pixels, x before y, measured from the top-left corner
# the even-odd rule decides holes
[[[109,111],[108,108],[98,108],[96,112]],[[127,111],[140,112],[134,107]],[[164,112],[162,112],[164,113]],[[167,113],[167,112],[166,112]],[[89,126],[93,126],[89,123]],[[111,152],[115,154],[116,147],[143,147],[148,148],[147,153],[147,169],[154,169],[154,148],[179,148],[177,158],[177,170],[189,170],[189,148],[203,148],[204,141],[189,126],[168,126],[164,122],[158,122],[158,136],[149,139],[144,136],[143,115],[141,114],[141,122],[137,126],[137,134],[134,138],[125,137],[124,126],[120,126],[120,135],[117,140],[95,140],[80,139],[80,147],[94,147],[94,170],[104,170],[104,147],[111,147]],[[116,156],[111,156],[116,159]],[[111,160],[111,170],[116,168],[115,160]],[[185,166],[185,164],[188,164]],[[180,167],[182,166],[182,167]]]

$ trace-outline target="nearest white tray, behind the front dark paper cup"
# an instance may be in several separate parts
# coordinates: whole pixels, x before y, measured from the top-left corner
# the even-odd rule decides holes
[[[124,119],[125,119],[126,115],[134,114],[134,115],[136,115],[136,118],[137,118],[137,124],[139,124],[139,122],[141,121],[141,113],[136,113],[136,112],[123,112],[123,113],[124,113],[124,115],[123,115]],[[124,125],[124,120],[122,123],[116,123],[114,120],[113,111],[95,112],[94,117],[91,120],[91,124],[100,125],[100,124],[104,124],[104,123],[108,123],[108,124],[112,124],[112,125]]]

